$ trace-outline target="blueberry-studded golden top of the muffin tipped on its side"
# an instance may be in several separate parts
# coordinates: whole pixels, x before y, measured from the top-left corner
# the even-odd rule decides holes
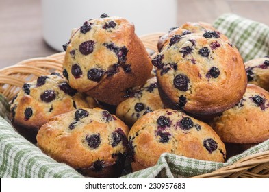
[[[65,45],[64,76],[71,87],[88,91],[119,68],[129,73],[131,64],[125,62],[133,34],[133,24],[123,18],[85,21]]]

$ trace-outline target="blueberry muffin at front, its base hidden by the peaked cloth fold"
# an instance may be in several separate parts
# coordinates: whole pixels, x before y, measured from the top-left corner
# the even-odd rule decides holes
[[[225,145],[212,128],[183,112],[159,109],[134,123],[128,135],[133,171],[151,167],[162,153],[225,161]]]

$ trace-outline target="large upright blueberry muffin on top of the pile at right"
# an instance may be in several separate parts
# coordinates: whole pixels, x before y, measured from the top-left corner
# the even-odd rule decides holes
[[[237,104],[246,90],[244,63],[217,32],[173,36],[152,64],[166,108],[209,117]]]

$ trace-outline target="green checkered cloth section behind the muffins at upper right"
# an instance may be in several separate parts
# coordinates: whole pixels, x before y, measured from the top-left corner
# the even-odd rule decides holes
[[[269,56],[269,27],[235,14],[223,14],[213,26],[235,45],[244,62]]]

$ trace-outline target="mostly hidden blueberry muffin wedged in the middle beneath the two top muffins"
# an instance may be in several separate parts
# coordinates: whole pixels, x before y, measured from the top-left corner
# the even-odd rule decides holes
[[[148,112],[164,108],[159,97],[156,77],[149,79],[133,97],[121,102],[116,109],[116,116],[129,127]]]

